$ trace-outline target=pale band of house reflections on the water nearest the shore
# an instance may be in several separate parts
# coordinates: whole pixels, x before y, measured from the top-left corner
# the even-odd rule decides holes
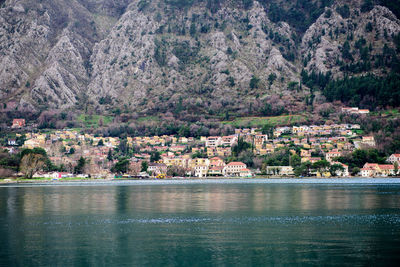
[[[383,187],[384,188],[384,187]],[[273,211],[282,209],[328,210],[398,208],[396,192],[382,197],[376,186],[330,185],[175,185],[110,187],[33,187],[2,188],[0,205],[22,209],[24,215],[46,213],[103,214],[136,210],[140,212],[181,213]],[[390,191],[390,190],[389,190]],[[397,195],[399,196],[399,195]],[[5,201],[3,203],[3,201]],[[384,203],[381,203],[384,201]],[[5,205],[6,204],[6,205]]]

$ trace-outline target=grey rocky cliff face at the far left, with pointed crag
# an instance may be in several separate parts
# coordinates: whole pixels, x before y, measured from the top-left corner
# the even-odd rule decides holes
[[[2,102],[36,109],[74,105],[89,84],[94,44],[126,7],[124,1],[107,2],[5,1],[0,9]],[[89,11],[91,6],[96,8]]]

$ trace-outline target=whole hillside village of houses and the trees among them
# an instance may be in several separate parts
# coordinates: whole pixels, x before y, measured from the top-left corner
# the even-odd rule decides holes
[[[14,120],[13,127],[23,124],[21,120]],[[362,136],[359,132],[357,124],[332,124],[276,127],[268,133],[259,128],[235,129],[232,135],[200,138],[162,135],[120,139],[66,129],[17,134],[16,138],[23,143],[8,139],[2,149],[18,153],[22,149],[43,148],[50,161],[59,166],[59,171],[38,171],[33,177],[375,177],[398,174],[399,154],[391,155],[387,164],[368,162],[359,170],[350,170],[348,165],[338,161],[357,149],[375,147],[373,136]],[[282,151],[289,153],[288,164],[259,160]],[[238,160],[243,158],[243,162]],[[85,166],[77,171],[80,160]],[[306,171],[299,171],[300,168]]]

